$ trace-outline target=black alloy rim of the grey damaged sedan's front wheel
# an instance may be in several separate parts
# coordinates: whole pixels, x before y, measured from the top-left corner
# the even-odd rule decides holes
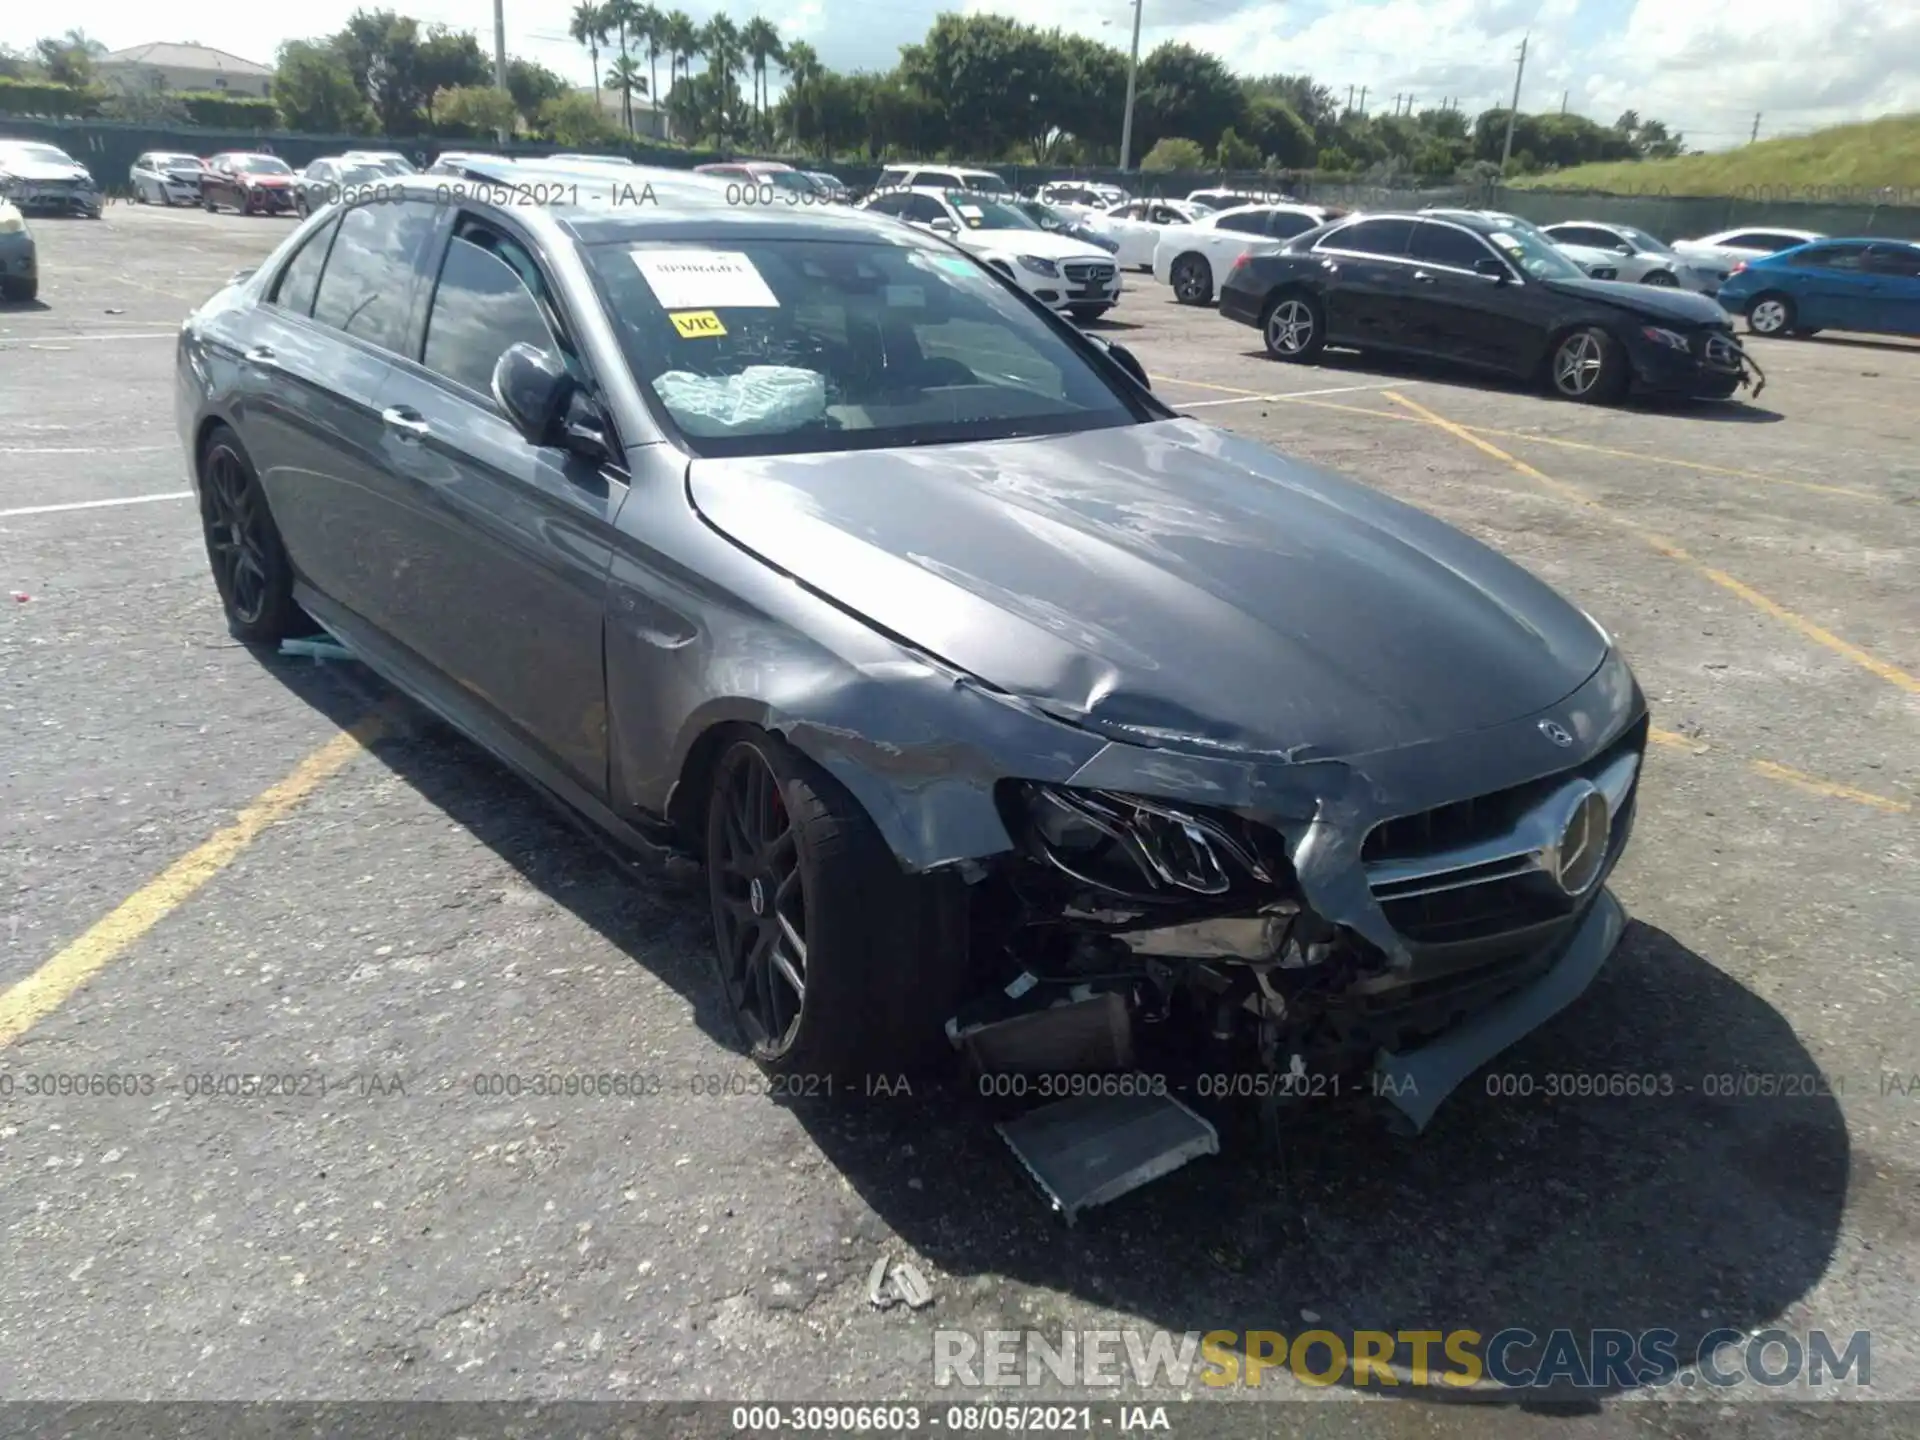
[[[708,891],[720,983],[756,1060],[785,1054],[806,1004],[806,877],[799,833],[760,747],[720,758]]]

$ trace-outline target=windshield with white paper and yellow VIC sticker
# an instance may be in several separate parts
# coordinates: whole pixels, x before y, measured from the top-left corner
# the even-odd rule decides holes
[[[1148,417],[968,255],[739,240],[588,250],[628,365],[695,455],[1050,436]]]

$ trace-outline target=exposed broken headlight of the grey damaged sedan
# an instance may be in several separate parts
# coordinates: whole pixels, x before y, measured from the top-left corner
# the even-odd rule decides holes
[[[1236,816],[1062,785],[1021,785],[1016,806],[1012,829],[1027,851],[1100,891],[1185,899],[1273,883],[1258,839]]]

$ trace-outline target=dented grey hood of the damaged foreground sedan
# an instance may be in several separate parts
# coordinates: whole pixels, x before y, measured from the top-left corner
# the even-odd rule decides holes
[[[1532,714],[1605,659],[1496,551],[1196,420],[701,459],[687,484],[874,626],[1116,739],[1365,755]]]

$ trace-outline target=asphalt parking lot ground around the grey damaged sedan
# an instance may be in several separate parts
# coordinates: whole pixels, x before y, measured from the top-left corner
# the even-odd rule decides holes
[[[1615,879],[1634,925],[1498,1062],[1532,1094],[1475,1081],[1419,1139],[1229,1133],[1066,1231],[966,1094],[755,1092],[699,889],[622,872],[359,666],[228,639],[171,342],[286,225],[38,223],[40,301],[0,305],[0,1392],[877,1400],[931,1394],[937,1327],[1313,1323],[1870,1331],[1870,1394],[1920,1398],[1920,348],[1755,342],[1759,401],[1599,411],[1283,367],[1129,280],[1104,328],[1164,397],[1561,588],[1634,660],[1657,743]],[[540,1071],[710,1081],[474,1083]],[[301,1083],[188,1094],[238,1073]],[[1548,1094],[1582,1073],[1670,1092]],[[933,1308],[870,1308],[881,1254]],[[1707,1407],[1910,1434],[1772,1400]],[[1555,1425],[1707,1423],[1647,1409]]]

